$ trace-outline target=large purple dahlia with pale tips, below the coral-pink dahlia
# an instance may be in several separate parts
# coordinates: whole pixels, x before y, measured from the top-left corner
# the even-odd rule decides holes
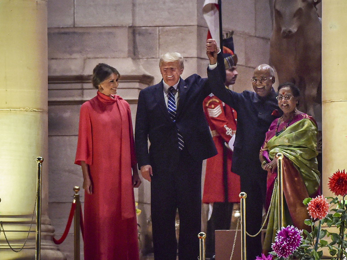
[[[272,250],[278,257],[288,258],[299,248],[303,240],[301,234],[302,232],[294,226],[282,227],[271,245]]]

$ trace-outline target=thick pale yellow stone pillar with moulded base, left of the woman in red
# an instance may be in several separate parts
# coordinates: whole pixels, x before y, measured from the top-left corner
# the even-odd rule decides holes
[[[35,259],[35,232],[26,231],[36,225],[37,156],[44,157],[41,259],[65,259],[48,218],[47,92],[47,1],[0,0],[0,221],[8,240],[0,234],[0,260]],[[26,243],[14,252],[8,242],[16,251]]]

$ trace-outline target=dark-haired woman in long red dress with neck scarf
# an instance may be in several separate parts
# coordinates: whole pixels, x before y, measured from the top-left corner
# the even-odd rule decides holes
[[[137,172],[129,104],[116,95],[119,72],[93,70],[97,95],[81,106],[75,164],[82,166],[84,259],[138,260]],[[133,173],[132,173],[133,171]]]

